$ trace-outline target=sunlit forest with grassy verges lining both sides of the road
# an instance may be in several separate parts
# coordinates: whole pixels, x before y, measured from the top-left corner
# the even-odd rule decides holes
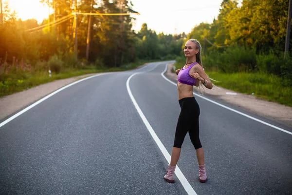
[[[203,67],[218,80],[215,85],[292,106],[292,36],[284,58],[289,0],[222,0],[213,23],[175,35],[155,32],[146,23],[139,32],[132,30],[139,10],[130,0],[40,2],[54,10],[42,23],[17,19],[3,3],[0,96],[150,61],[176,60],[180,68],[184,43],[198,39]]]

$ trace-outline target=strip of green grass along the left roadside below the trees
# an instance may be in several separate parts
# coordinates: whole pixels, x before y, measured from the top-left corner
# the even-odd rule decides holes
[[[134,69],[140,65],[149,61],[140,60],[133,63],[128,63],[118,68],[95,68],[94,66],[86,67],[86,69],[65,69],[59,74],[52,73],[52,77],[49,77],[47,71],[30,73],[23,71],[15,71],[9,74],[0,74],[0,97],[10,95],[16,92],[20,92],[40,84],[48,83],[57,79],[71,78],[91,73],[101,72],[115,72],[126,71]]]

